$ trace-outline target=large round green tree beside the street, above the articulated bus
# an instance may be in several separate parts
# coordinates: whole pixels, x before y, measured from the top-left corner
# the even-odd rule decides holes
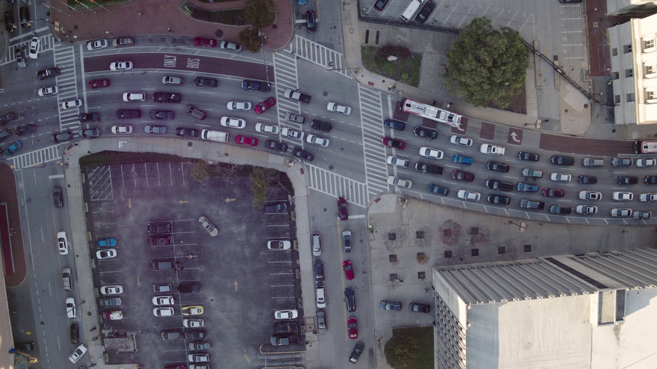
[[[525,84],[528,53],[520,33],[509,27],[493,30],[488,18],[474,18],[447,53],[445,85],[474,106],[494,100],[506,108]]]

